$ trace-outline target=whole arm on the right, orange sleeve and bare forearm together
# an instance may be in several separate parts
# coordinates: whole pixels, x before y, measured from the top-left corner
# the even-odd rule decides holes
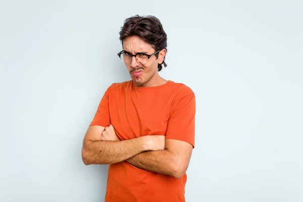
[[[127,160],[129,163],[157,173],[180,178],[187,170],[194,145],[195,95],[176,98],[167,125],[165,149],[146,151]]]

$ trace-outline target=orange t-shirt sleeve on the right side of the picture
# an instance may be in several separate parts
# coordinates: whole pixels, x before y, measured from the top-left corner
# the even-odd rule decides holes
[[[176,100],[166,131],[167,139],[186,141],[194,147],[195,95],[185,95]]]

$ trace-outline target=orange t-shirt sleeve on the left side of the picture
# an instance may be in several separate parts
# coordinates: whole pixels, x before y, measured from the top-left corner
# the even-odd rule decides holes
[[[104,93],[98,106],[97,112],[95,113],[95,116],[89,126],[98,125],[107,127],[111,124],[109,111],[109,91],[110,88],[108,88]]]

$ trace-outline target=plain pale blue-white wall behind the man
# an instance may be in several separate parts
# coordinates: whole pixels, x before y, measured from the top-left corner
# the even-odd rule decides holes
[[[0,201],[104,201],[84,134],[130,77],[120,27],[155,15],[161,76],[196,95],[186,200],[303,201],[301,1],[1,1]]]

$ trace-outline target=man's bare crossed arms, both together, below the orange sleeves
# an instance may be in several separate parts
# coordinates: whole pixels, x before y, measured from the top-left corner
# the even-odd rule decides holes
[[[120,141],[112,125],[92,125],[84,137],[82,160],[85,165],[128,161],[144,170],[181,178],[187,170],[191,151],[190,143],[165,139],[164,135]]]

